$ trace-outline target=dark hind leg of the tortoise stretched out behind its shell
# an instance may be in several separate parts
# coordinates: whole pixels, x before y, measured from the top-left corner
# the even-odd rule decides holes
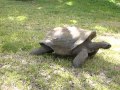
[[[48,46],[41,46],[40,48],[34,49],[30,52],[31,55],[41,55],[45,53],[52,53],[53,50]]]

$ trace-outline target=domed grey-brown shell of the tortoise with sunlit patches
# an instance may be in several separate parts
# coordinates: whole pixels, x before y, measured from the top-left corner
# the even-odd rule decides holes
[[[59,55],[69,55],[78,45],[87,39],[92,40],[95,36],[95,31],[83,30],[75,26],[56,27],[48,32],[40,44],[51,47]]]

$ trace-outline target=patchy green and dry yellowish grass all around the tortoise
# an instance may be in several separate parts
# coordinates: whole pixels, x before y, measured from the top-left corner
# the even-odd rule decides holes
[[[96,30],[112,48],[81,68],[72,58],[29,55],[48,30],[65,24]],[[119,33],[119,0],[0,0],[0,88],[120,90]]]

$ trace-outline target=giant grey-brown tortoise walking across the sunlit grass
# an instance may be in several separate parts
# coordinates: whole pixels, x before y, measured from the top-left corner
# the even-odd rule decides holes
[[[30,54],[56,53],[57,55],[75,56],[73,66],[79,67],[88,57],[94,56],[100,48],[111,47],[109,43],[104,41],[92,42],[95,36],[95,31],[75,26],[56,27],[49,31],[46,38],[40,42],[41,47],[33,50]]]

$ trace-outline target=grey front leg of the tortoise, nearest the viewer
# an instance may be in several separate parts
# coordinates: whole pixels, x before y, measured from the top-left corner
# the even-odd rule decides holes
[[[81,66],[85,60],[87,59],[88,57],[88,52],[87,52],[87,49],[86,48],[83,48],[78,54],[77,56],[74,58],[73,60],[73,66],[74,67],[79,67]]]

